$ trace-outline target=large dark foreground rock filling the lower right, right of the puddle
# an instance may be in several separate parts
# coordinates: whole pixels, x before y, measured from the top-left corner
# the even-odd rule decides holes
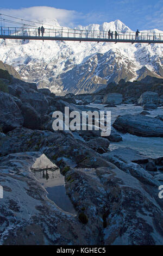
[[[95,226],[100,226],[98,216],[103,218],[104,245],[162,243],[161,200],[156,199],[159,206],[152,202],[158,192],[153,185],[148,185],[146,192],[140,181],[111,163],[90,172],[73,170],[67,175],[74,180],[67,184],[68,195],[76,209],[85,208],[84,213],[90,220],[87,225],[95,231]]]

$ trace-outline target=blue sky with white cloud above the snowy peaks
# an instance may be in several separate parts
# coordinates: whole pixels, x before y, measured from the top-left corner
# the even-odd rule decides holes
[[[1,1],[0,13],[30,20],[52,17],[72,28],[118,19],[133,31],[163,31],[163,0],[7,0]]]

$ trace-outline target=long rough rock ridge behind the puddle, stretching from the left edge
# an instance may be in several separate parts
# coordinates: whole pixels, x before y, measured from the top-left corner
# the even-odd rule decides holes
[[[42,118],[43,119],[43,118]],[[48,117],[45,118],[48,125]],[[49,121],[51,121],[49,119]],[[52,125],[51,125],[52,127]],[[48,157],[71,158],[71,162],[82,161],[86,156],[97,156],[98,154],[87,146],[85,142],[77,141],[69,133],[64,131],[42,131],[31,130],[25,127],[17,128],[9,133],[0,147],[0,154],[24,151],[41,151]]]

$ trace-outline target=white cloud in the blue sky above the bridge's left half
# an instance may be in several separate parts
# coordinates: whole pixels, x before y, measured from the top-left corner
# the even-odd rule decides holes
[[[60,26],[73,26],[82,14],[74,10],[57,9],[53,7],[37,6],[21,9],[0,9],[1,14],[10,15],[25,20],[36,21],[46,20],[52,21],[57,19]],[[2,16],[4,19],[4,16]],[[13,20],[10,17],[5,19]],[[16,21],[16,20],[15,20]],[[20,21],[19,21],[20,22]]]

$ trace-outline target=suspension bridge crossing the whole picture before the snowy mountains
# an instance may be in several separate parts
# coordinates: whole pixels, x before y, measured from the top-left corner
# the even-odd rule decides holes
[[[39,33],[35,27],[0,27],[0,39],[19,40],[57,40],[57,41],[88,41],[88,42],[130,42],[162,44],[163,33],[140,32],[115,32],[109,36],[108,31],[90,31],[68,28],[45,28],[44,33]]]

